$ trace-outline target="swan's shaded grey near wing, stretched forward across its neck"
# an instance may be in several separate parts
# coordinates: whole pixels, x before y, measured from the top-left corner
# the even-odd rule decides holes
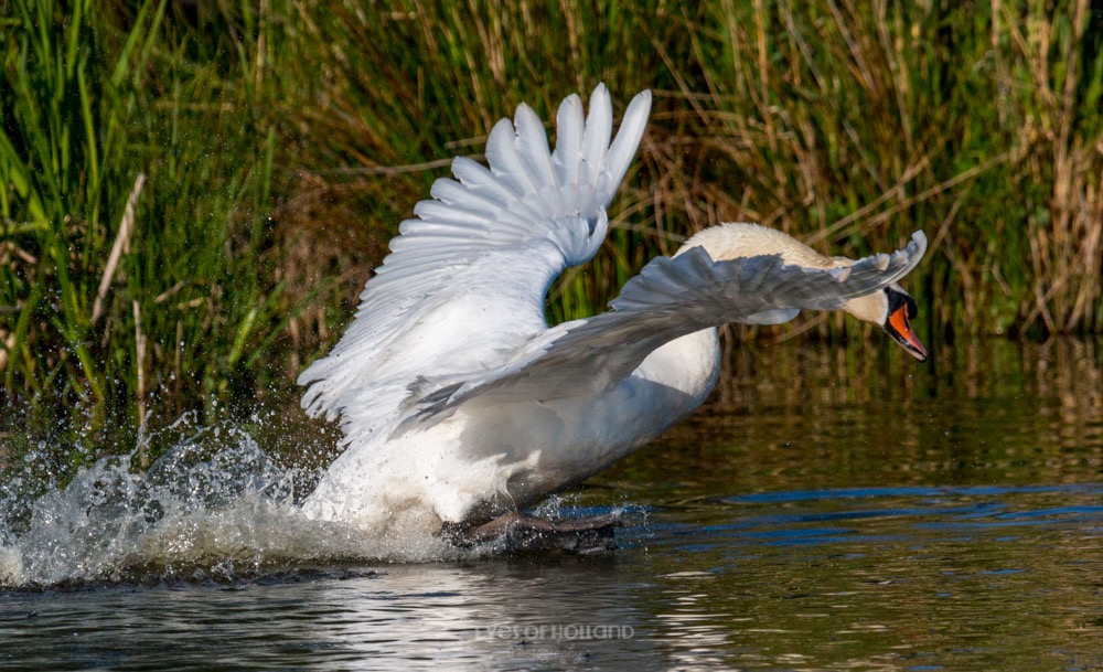
[[[560,324],[489,375],[438,381],[409,419],[447,417],[474,397],[495,403],[598,393],[629,376],[658,346],[695,331],[727,322],[784,322],[802,309],[837,310],[896,282],[925,249],[927,237],[917,232],[892,255],[843,268],[786,265],[780,255],[714,262],[703,247],[660,257],[624,286],[613,312]]]

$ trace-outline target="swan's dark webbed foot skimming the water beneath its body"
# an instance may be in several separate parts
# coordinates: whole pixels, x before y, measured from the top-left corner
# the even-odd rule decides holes
[[[613,529],[621,525],[619,513],[553,520],[514,511],[481,525],[445,523],[440,535],[461,547],[501,541],[513,551],[586,554],[614,550]]]

